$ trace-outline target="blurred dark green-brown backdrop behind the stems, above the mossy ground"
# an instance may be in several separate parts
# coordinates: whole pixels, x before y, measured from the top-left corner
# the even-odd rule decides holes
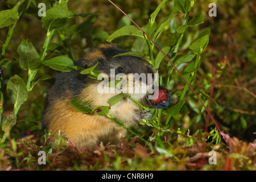
[[[51,3],[55,1],[35,2],[44,2],[49,8]],[[148,23],[150,14],[160,2],[160,0],[114,1],[141,27]],[[208,5],[212,2],[217,5],[216,17],[208,15],[210,10]],[[16,0],[2,0],[0,10],[10,9],[15,3]],[[47,31],[42,28],[36,3],[32,3],[28,13],[17,22],[13,37],[7,48],[6,56],[11,60],[11,64],[4,68],[3,84],[5,86],[9,78],[15,74],[23,76],[24,80],[27,79],[27,73],[19,67],[19,55],[16,52],[20,42],[23,39],[28,39],[38,51],[42,49]],[[130,20],[125,18],[118,9],[106,0],[69,0],[68,7],[70,11],[78,14],[98,13],[93,19],[92,28],[85,28],[69,42],[73,60],[78,60],[93,46],[104,43],[106,38],[118,28],[131,24]],[[209,44],[201,55],[201,68],[197,72],[192,86],[198,93],[205,95],[205,98],[207,98],[210,92],[211,74],[215,67],[217,70],[213,90],[215,102],[212,105],[214,119],[231,136],[253,142],[256,136],[256,2],[249,0],[197,0],[192,8],[191,15],[198,12],[203,14],[204,23],[185,31],[183,42],[177,54],[187,52],[188,47],[199,35],[199,32],[206,28],[210,29]],[[175,13],[174,1],[167,1],[156,17],[156,21],[161,22],[161,20]],[[178,27],[183,18],[184,14],[177,15],[175,21],[172,22],[172,26]],[[69,21],[68,26],[82,23],[84,20],[78,16]],[[1,28],[0,47],[2,47],[3,40],[6,39],[7,32],[8,27]],[[160,41],[168,39],[168,32],[170,32],[170,29],[161,35]],[[141,44],[144,44],[142,39],[126,36],[115,39],[114,42],[129,51],[143,51],[140,50]],[[57,35],[53,36],[49,49],[48,51],[51,54],[46,57],[46,60],[67,53]],[[160,64],[160,73],[163,77],[166,76],[166,64],[167,60]],[[45,74],[53,75],[53,73],[52,69],[45,67],[39,69],[36,78]],[[40,118],[42,117],[47,89],[50,85],[49,81],[41,81],[32,90],[28,100],[22,105],[18,113],[18,122],[11,132],[13,137],[20,138],[28,134],[40,135]],[[168,89],[175,92],[183,88],[183,82],[177,73],[174,73]],[[13,110],[13,104],[11,104],[9,96],[6,92],[4,94],[3,117]],[[180,114],[172,118],[171,127],[175,130],[181,127],[184,131],[187,129],[191,131],[203,130],[206,114],[201,113],[201,104],[190,91],[185,96],[185,100],[185,106],[181,109]],[[213,128],[213,123],[210,123],[209,130]]]

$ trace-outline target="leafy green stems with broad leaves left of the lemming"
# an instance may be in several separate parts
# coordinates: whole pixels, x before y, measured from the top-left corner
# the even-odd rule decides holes
[[[18,20],[18,17],[24,14],[24,12],[30,6],[33,6],[33,3],[31,3],[31,1],[19,1],[19,3],[17,3],[13,7],[13,10],[1,11],[1,28],[10,26],[6,42],[5,44],[3,44],[2,47],[1,65],[4,67],[7,67],[11,62],[6,57],[6,48],[10,43],[11,36],[13,36],[15,22]],[[19,10],[19,14],[17,10]],[[67,23],[68,19],[75,18],[76,16],[86,18],[93,15],[95,14],[76,14],[72,11],[68,11],[67,1],[56,3],[53,7],[49,8],[46,11],[46,16],[42,17],[42,28],[45,28],[47,30],[47,34],[44,40],[44,44],[41,45],[42,50],[40,51],[40,54],[38,53],[38,51],[36,51],[36,48],[30,42],[30,40],[22,40],[20,42],[19,46],[16,49],[16,52],[19,55],[20,68],[22,68],[24,71],[27,71],[27,82],[25,83],[26,80],[23,80],[23,78],[19,75],[11,77],[7,82],[6,91],[11,98],[11,102],[14,105],[14,109],[13,113],[7,115],[3,119],[2,130],[5,133],[3,134],[2,142],[5,142],[7,135],[9,136],[11,127],[13,127],[16,123],[16,115],[18,114],[20,107],[24,104],[26,100],[28,100],[28,96],[32,89],[35,87],[35,85],[38,84],[39,81],[44,81],[51,78],[51,76],[46,74],[39,76],[38,78],[35,78],[39,70],[43,71],[45,69],[43,65],[47,65],[48,67],[55,69],[57,71],[72,71],[73,69],[77,69],[79,71],[83,70],[82,68],[74,66],[71,49],[69,48],[68,41],[70,39],[74,39],[76,35],[81,33],[80,31],[89,31],[90,28],[92,28],[94,20],[92,18],[88,18],[85,20],[84,23],[82,23],[78,27],[74,27],[74,25],[71,26],[71,28],[67,26]],[[57,30],[60,39],[63,41],[63,44],[65,45],[66,52],[68,52],[68,55],[70,57],[60,55],[51,57],[50,59],[47,57],[47,60],[45,60],[46,55],[50,53],[51,49],[49,49],[48,52],[48,48],[50,46],[51,39],[55,34],[55,30]],[[64,32],[64,34],[62,31]],[[1,101],[2,104],[0,110],[2,115],[4,103],[3,97],[1,97]],[[9,126],[7,127],[8,130],[6,129],[6,126]]]

